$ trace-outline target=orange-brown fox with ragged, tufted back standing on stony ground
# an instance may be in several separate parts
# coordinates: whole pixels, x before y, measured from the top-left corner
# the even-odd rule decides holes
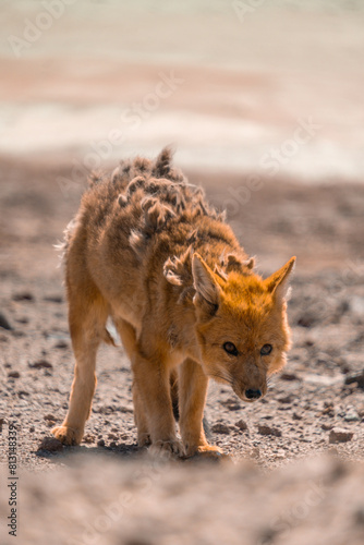
[[[97,351],[114,344],[108,318],[131,362],[138,446],[154,452],[223,456],[204,428],[209,379],[253,402],[286,364],[295,256],[263,279],[225,213],[172,156],[166,147],[154,160],[137,156],[94,172],[65,230],[75,367],[66,416],[52,429],[65,445],[83,439]]]

